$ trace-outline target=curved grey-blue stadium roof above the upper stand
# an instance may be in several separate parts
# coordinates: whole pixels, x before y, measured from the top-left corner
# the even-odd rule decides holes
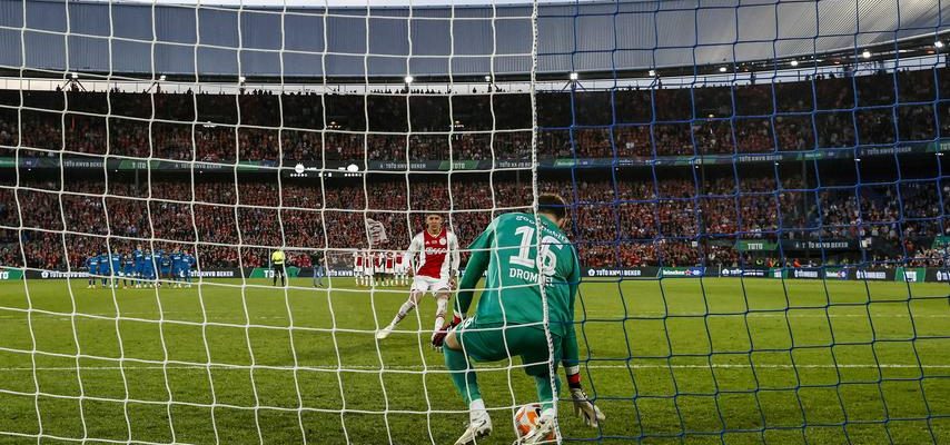
[[[261,0],[243,8],[234,0],[69,1],[68,8],[62,0],[0,0],[0,66],[340,79],[531,71],[532,7],[523,1],[330,0],[329,8],[301,1],[288,0],[285,11],[284,2]],[[947,29],[939,18],[948,13],[950,2],[939,0],[543,1],[537,72],[733,66],[835,51],[857,57],[907,39],[932,41]]]

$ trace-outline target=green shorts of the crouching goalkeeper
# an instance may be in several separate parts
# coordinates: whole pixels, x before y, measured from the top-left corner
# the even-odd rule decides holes
[[[456,326],[455,335],[463,352],[475,362],[499,362],[521,357],[524,372],[530,376],[548,374],[552,359],[553,369],[557,370],[563,358],[561,337],[551,334],[554,345],[552,354],[542,326],[478,324],[475,317],[472,317]]]

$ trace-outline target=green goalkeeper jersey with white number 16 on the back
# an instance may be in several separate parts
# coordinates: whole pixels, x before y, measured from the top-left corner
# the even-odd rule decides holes
[[[536,221],[541,222],[541,255]],[[581,266],[567,236],[544,215],[535,219],[531,214],[506,214],[495,218],[468,248],[472,256],[459,285],[459,312],[468,310],[473,289],[487,271],[475,322],[537,324],[543,329],[543,283],[551,333],[568,343],[568,359],[571,355],[576,357],[574,296]]]

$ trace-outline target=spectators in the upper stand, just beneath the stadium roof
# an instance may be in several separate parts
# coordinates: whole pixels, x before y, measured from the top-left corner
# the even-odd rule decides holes
[[[894,88],[897,83],[898,88]],[[938,96],[939,93],[939,96]],[[950,134],[947,69],[692,89],[540,92],[540,157],[761,154]],[[531,98],[0,92],[0,145],[208,162],[530,159]],[[18,112],[18,107],[27,107]]]

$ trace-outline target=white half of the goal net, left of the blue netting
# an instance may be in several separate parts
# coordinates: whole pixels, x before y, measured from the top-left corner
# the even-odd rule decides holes
[[[0,435],[454,441],[433,300],[375,335],[427,216],[465,247],[537,196],[534,6],[7,7]]]

